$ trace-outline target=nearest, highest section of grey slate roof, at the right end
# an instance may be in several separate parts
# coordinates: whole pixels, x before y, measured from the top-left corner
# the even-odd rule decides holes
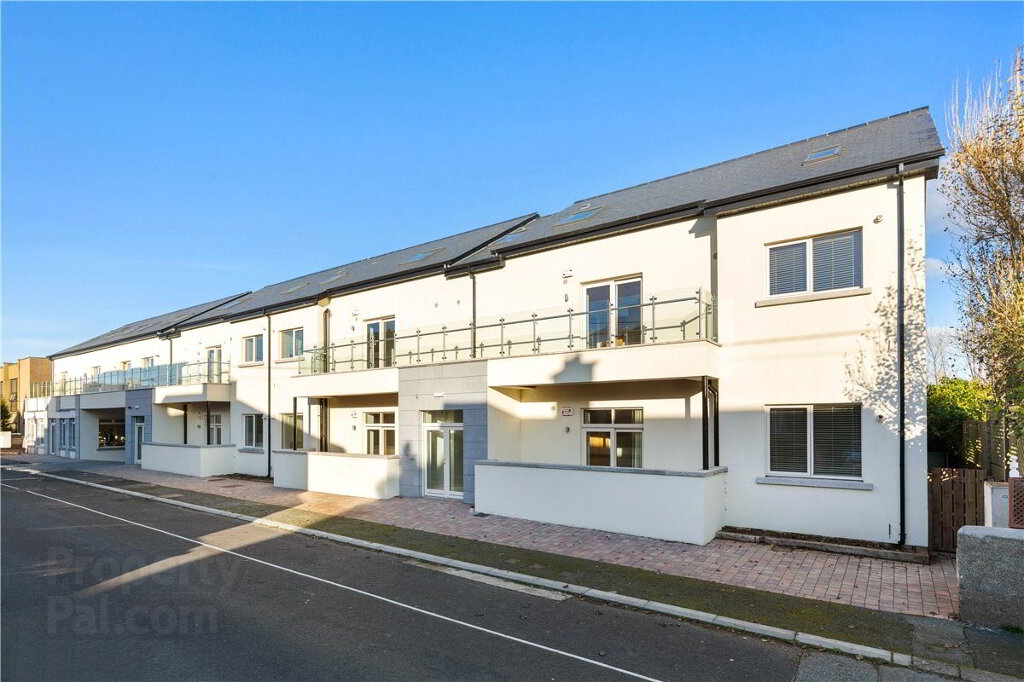
[[[804,163],[812,152],[839,145],[834,158]],[[906,160],[943,153],[928,108],[915,109],[851,128],[809,137],[713,166],[706,166],[625,189],[574,202],[497,240],[456,266],[472,265],[495,254],[538,245],[609,225],[693,206],[715,204],[790,186],[822,182]],[[593,211],[593,213],[590,213]],[[572,217],[585,216],[573,220]]]

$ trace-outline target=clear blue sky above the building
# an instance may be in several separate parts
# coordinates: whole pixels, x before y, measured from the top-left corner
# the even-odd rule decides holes
[[[4,360],[915,106],[944,135],[1024,42],[1024,3],[0,11]]]

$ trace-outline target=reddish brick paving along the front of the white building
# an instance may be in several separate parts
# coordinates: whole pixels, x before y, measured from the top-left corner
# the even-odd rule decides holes
[[[40,464],[69,463],[50,457],[18,456],[17,459]],[[501,516],[474,516],[472,507],[452,500],[366,500],[273,487],[262,481],[194,478],[105,463],[74,464],[77,469],[94,469],[169,487],[299,507],[884,611],[949,617],[958,607],[956,566],[949,557],[922,565],[727,540],[715,540],[700,547]]]

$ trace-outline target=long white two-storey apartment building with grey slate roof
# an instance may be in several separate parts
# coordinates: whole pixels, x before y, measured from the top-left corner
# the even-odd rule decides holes
[[[52,356],[29,444],[687,543],[927,546],[942,153],[919,109],[126,325]]]

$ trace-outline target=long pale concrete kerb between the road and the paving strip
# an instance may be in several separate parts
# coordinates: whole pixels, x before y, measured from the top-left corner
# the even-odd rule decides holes
[[[938,660],[929,660],[918,656],[909,656],[904,653],[889,651],[888,649],[878,649],[870,646],[864,646],[863,644],[855,644],[853,642],[846,642],[839,639],[830,639],[828,637],[819,637],[817,635],[811,635],[809,633],[797,632],[795,630],[786,630],[785,628],[775,628],[773,626],[767,626],[760,623],[740,621],[737,619],[727,617],[725,615],[717,615],[715,613],[708,613],[706,611],[698,611],[691,608],[676,606],[674,604],[665,604],[662,602],[639,599],[637,597],[629,597],[614,592],[595,590],[593,588],[584,587],[582,585],[561,583],[559,581],[552,581],[545,578],[537,578],[535,576],[527,576],[525,573],[518,573],[511,570],[504,570],[502,568],[494,568],[492,566],[484,566],[477,563],[470,563],[468,561],[450,559],[447,557],[437,556],[435,554],[426,554],[425,552],[408,550],[401,547],[382,545],[381,543],[372,543],[366,540],[359,540],[358,538],[349,538],[348,536],[341,536],[334,532],[327,532],[324,530],[316,530],[313,528],[304,528],[300,525],[285,523],[283,521],[274,521],[271,519],[249,516],[248,514],[239,514],[236,512],[229,512],[222,509],[214,509],[212,507],[204,507],[202,505],[195,505],[188,502],[181,502],[180,500],[170,500],[168,498],[162,498],[156,495],[148,495],[146,493],[138,493],[136,491],[126,491],[120,487],[103,485],[102,483],[94,483],[92,481],[80,480],[78,478],[58,476],[56,474],[48,473],[45,471],[38,471],[36,469],[28,469],[25,467],[14,467],[9,465],[0,466],[0,468],[8,469],[10,471],[18,471],[20,473],[28,473],[35,476],[42,476],[44,478],[52,478],[54,480],[60,480],[69,483],[77,483],[79,485],[95,487],[102,491],[109,491],[111,493],[120,493],[121,495],[128,495],[131,497],[140,498],[142,500],[162,502],[164,504],[173,505],[175,507],[181,507],[183,509],[189,509],[191,511],[198,511],[207,514],[215,514],[217,516],[233,518],[240,521],[246,521],[248,523],[256,523],[258,525],[275,528],[278,530],[285,530],[287,532],[299,532],[302,535],[311,536],[313,538],[319,538],[322,540],[330,540],[332,542],[342,543],[345,545],[350,545],[352,547],[358,547],[360,549],[368,549],[376,552],[382,552],[385,554],[392,554],[395,556],[418,559],[420,561],[426,561],[428,563],[447,566],[451,568],[461,568],[462,570],[468,570],[483,576],[490,576],[494,578],[501,578],[504,580],[513,581],[515,583],[522,583],[524,585],[531,585],[535,587],[545,588],[548,590],[554,590],[558,592],[566,592],[575,596],[586,597],[588,599],[606,601],[613,604],[630,606],[632,608],[639,608],[643,610],[653,611],[655,613],[672,615],[675,617],[684,619],[686,621],[694,621],[697,623],[703,623],[721,628],[728,628],[730,630],[744,632],[752,635],[757,635],[759,637],[771,637],[773,639],[778,639],[793,644],[813,646],[815,648],[839,651],[841,653],[847,653],[850,655],[882,660],[884,663],[889,663],[896,666],[902,666],[906,668],[912,667],[928,671],[943,670],[947,671],[944,674],[952,675],[954,677],[958,677],[962,674],[964,674],[963,675],[964,679],[977,679],[973,676],[973,674],[976,672],[981,673],[983,675],[992,676],[992,679],[995,678],[1002,678],[1006,680],[1015,679],[1006,676],[993,675],[992,673],[988,673],[987,671],[975,671],[974,669],[966,669],[966,668],[961,669],[950,664],[945,664]]]

